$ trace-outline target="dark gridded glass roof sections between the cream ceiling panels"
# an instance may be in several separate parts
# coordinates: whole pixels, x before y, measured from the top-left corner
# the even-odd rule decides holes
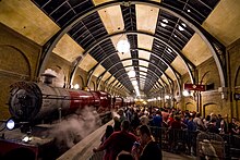
[[[61,28],[67,27],[77,15],[89,12],[95,7],[92,0],[33,0],[33,2]],[[194,25],[201,25],[218,2],[219,0],[161,0],[159,5],[180,14]],[[121,5],[121,13],[124,21],[124,30],[136,32],[137,22],[135,4]],[[107,29],[105,28],[98,12],[94,12],[77,22],[68,34],[84,50],[87,50],[91,45],[99,41],[101,37],[108,36]],[[151,56],[149,58],[148,71],[151,72],[147,72],[143,88],[145,94],[154,87],[157,79],[159,79],[161,74],[169,67],[177,57],[177,53],[163,44],[161,40],[168,44],[177,52],[181,53],[181,50],[188,44],[193,34],[194,30],[191,26],[188,26],[182,20],[164,10],[159,10],[154,33],[156,38],[154,38],[151,50],[151,52],[157,57]],[[141,64],[139,63],[137,34],[129,34],[128,40],[131,45],[132,64],[136,71],[136,78],[139,82],[143,82],[143,79],[140,78],[141,72],[139,66]],[[112,41],[106,39],[92,49],[89,54],[96,61],[103,61],[101,65],[107,70],[121,61],[118,54],[106,59],[106,57],[115,52],[116,48]],[[184,58],[184,56],[182,57]],[[189,61],[187,58],[184,58],[184,60],[185,62]],[[117,73],[115,74],[115,77],[125,88],[132,91],[133,86],[125,70],[122,70],[123,67],[122,63],[118,63],[115,67],[109,70],[109,73]],[[153,74],[153,72],[156,74]],[[178,74],[177,71],[175,72]]]

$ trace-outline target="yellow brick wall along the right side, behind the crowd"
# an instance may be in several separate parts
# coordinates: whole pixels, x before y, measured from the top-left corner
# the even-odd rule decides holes
[[[220,86],[220,78],[214,59],[211,58],[197,67],[199,83],[209,85],[214,84],[211,90],[201,93],[201,108],[202,114],[209,114],[212,112],[221,114],[224,116],[231,116],[240,119],[240,101],[233,99],[235,93],[240,93],[240,39],[227,47],[227,98],[223,99],[223,95],[218,91]],[[190,83],[188,74],[182,75],[182,85]],[[183,89],[183,88],[182,88]],[[175,90],[177,93],[177,90]],[[197,106],[196,98],[182,97],[177,98],[177,107],[183,110],[194,109]]]

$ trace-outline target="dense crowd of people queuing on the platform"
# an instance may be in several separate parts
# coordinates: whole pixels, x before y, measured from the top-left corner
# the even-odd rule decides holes
[[[239,122],[233,118],[231,123],[220,114],[211,113],[202,118],[194,111],[181,111],[173,108],[125,108],[118,110],[113,116],[113,126],[107,126],[101,144],[93,151],[105,150],[104,160],[160,160],[161,137],[168,137],[170,150],[177,149],[176,131],[188,131],[185,150],[195,155],[195,138],[200,132],[214,134],[240,134]],[[158,130],[158,136],[156,131]],[[163,132],[165,131],[165,132]],[[158,138],[158,139],[157,139]]]

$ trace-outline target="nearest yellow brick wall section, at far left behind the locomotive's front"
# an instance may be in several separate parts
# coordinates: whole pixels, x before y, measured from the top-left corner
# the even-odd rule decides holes
[[[0,23],[0,120],[8,119],[10,85],[33,81],[40,47]]]

